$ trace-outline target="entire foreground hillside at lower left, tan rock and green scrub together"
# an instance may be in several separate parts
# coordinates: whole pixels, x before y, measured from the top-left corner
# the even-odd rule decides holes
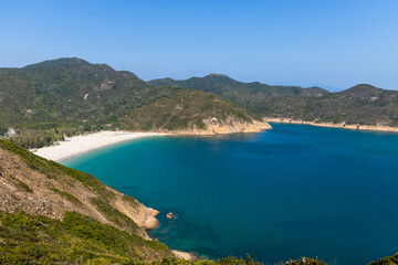
[[[0,264],[128,264],[172,257],[135,221],[150,209],[93,176],[4,140],[0,193]]]

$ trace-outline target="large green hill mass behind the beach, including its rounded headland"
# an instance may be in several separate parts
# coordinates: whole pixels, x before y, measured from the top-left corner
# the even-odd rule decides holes
[[[176,105],[185,98],[184,108],[176,112],[177,106],[163,107],[166,98]],[[161,104],[155,104],[157,100]],[[258,123],[242,107],[221,97],[214,102],[207,93],[154,87],[133,73],[76,57],[0,68],[0,131],[9,127],[29,131],[13,137],[29,148],[80,131],[156,129],[205,134],[214,131],[206,123],[212,119],[212,124],[224,129],[228,126],[234,132],[245,129],[242,124]],[[144,108],[148,105],[151,107]],[[161,115],[156,118],[148,115],[154,113]],[[235,125],[240,128],[234,128]]]

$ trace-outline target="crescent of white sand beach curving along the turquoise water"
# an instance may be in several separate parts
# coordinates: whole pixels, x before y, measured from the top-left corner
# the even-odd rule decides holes
[[[65,141],[60,141],[56,146],[39,148],[38,150],[33,150],[33,152],[50,160],[61,161],[116,142],[165,135],[166,134],[158,132],[100,131],[90,135],[74,136],[65,139]]]

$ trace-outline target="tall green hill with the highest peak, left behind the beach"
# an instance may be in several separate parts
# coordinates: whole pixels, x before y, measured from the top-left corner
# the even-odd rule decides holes
[[[101,127],[155,94],[129,72],[81,59],[0,70],[0,118],[9,127]]]

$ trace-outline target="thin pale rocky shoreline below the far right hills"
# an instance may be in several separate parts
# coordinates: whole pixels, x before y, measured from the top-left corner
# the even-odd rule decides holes
[[[290,118],[268,118],[268,117],[264,117],[263,120],[266,123],[311,125],[311,126],[337,128],[337,129],[398,132],[398,127],[389,127],[383,125],[359,125],[359,124],[346,125],[345,123],[342,124],[316,123],[316,121],[305,121],[305,120],[296,120]]]

